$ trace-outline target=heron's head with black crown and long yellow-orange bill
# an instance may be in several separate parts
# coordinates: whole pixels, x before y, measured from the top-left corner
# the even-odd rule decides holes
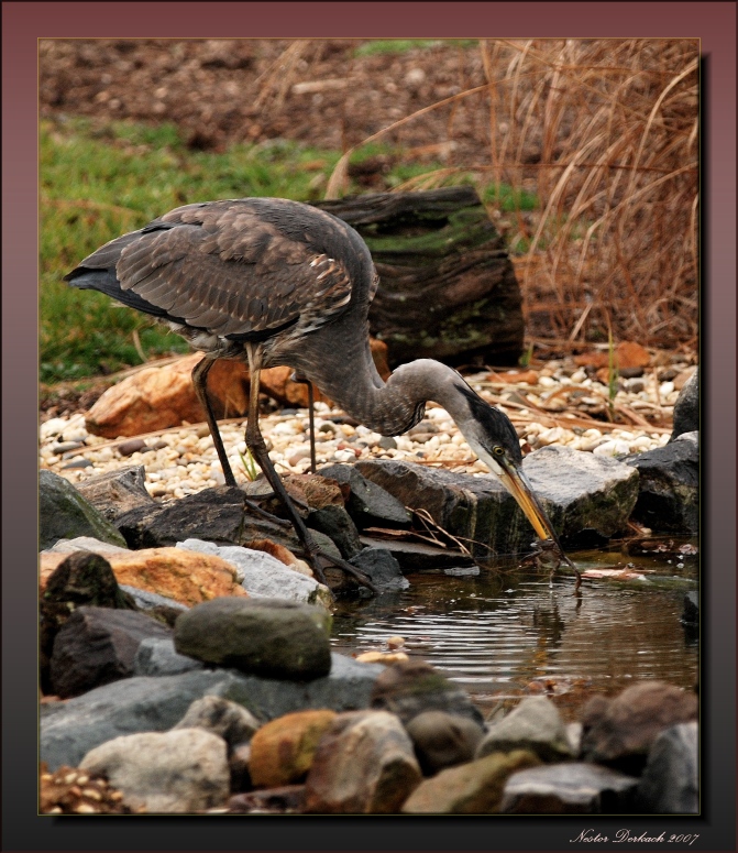
[[[459,423],[466,442],[515,497],[541,539],[559,538],[530,481],[522,471],[522,453],[515,427],[504,412],[485,403],[466,383],[456,385],[469,404],[469,417]]]

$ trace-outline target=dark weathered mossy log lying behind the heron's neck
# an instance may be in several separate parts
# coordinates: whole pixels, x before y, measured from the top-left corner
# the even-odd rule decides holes
[[[315,203],[366,241],[379,288],[371,333],[396,367],[514,364],[522,352],[521,296],[503,238],[473,187],[377,193]]]

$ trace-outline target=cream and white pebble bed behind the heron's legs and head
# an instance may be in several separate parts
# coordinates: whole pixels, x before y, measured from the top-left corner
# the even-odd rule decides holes
[[[488,373],[485,372],[467,376],[467,380],[484,396],[489,389],[487,378]],[[603,400],[607,400],[607,387],[588,379],[584,370],[571,371],[563,362],[551,362],[549,369],[539,373],[538,386],[526,386],[531,389],[526,391],[527,402],[535,405],[546,404],[544,397],[564,385],[591,389],[590,396],[575,389],[568,397],[561,396],[562,402],[568,401],[568,405],[576,405],[583,412],[587,411],[587,405],[602,407]],[[657,382],[653,375],[627,380],[616,403],[624,403],[648,416],[649,409],[654,405],[673,404],[679,394],[673,385],[671,381]],[[544,390],[543,396],[536,393],[537,387]],[[507,400],[525,402],[515,389],[506,394]],[[503,403],[503,408],[504,406]],[[508,408],[507,412],[516,415],[520,409]],[[277,471],[304,473],[309,470],[307,409],[286,408],[279,414],[263,416],[260,425]],[[222,424],[220,430],[236,480],[243,481],[246,479],[241,458],[246,456],[243,425]],[[520,440],[527,441],[532,448],[562,445],[612,457],[652,450],[669,440],[668,434],[652,433],[648,427],[640,431],[638,427],[614,430],[599,430],[595,427],[568,429],[561,425],[544,426],[535,420],[517,425],[517,431]],[[79,452],[82,448],[82,452]],[[75,456],[63,458],[64,452],[73,451],[76,451]],[[404,436],[395,437],[381,436],[361,424],[354,426],[341,416],[339,409],[332,409],[326,403],[317,403],[316,453],[318,466],[328,462],[353,462],[357,459],[423,459],[458,461],[460,470],[467,473],[487,473],[481,462],[473,461],[474,453],[449,413],[434,403],[428,405],[423,419],[416,427]],[[62,473],[71,483],[82,482],[89,477],[129,464],[145,466],[148,494],[164,501],[184,497],[225,482],[212,438],[203,424],[173,429],[155,439],[150,438],[148,444],[134,437],[120,439],[117,445],[88,434],[82,414],[69,418],[49,418],[41,424],[41,468]]]

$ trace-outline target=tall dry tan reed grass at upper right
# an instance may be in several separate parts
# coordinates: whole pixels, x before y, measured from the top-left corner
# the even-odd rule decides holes
[[[607,340],[612,327],[619,339],[694,347],[698,41],[491,40],[481,51],[485,86],[370,140],[429,110],[486,98],[489,161],[453,162],[451,153],[445,168],[399,189],[464,172],[536,195],[538,210],[515,210],[507,233],[510,245],[526,247],[516,269],[536,337]],[[339,162],[328,197],[356,147]]]

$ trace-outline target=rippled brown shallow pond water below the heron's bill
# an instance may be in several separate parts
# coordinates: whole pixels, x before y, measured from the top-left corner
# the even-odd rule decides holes
[[[551,588],[547,572],[509,564],[408,575],[401,592],[339,602],[333,648],[387,650],[387,638],[404,637],[403,650],[441,669],[485,715],[531,693],[552,696],[575,717],[592,693],[635,680],[693,688],[697,638],[681,616],[684,594],[697,588],[697,557],[570,556],[582,571],[635,564],[645,579],[584,579],[577,597],[571,577],[558,576]]]

